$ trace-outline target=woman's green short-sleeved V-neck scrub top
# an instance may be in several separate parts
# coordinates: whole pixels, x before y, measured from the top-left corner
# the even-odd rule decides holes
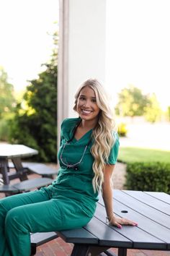
[[[90,215],[94,214],[96,208],[96,202],[98,200],[98,192],[94,192],[92,186],[92,179],[94,172],[92,165],[94,163],[94,157],[91,155],[91,133],[89,132],[76,140],[73,137],[73,130],[76,124],[79,124],[80,118],[65,119],[61,124],[61,147],[58,151],[58,161],[60,168],[58,171],[58,177],[53,182],[53,187],[57,189],[57,195],[77,200],[84,205],[86,212]],[[108,164],[115,164],[117,161],[117,154],[119,150],[119,139],[117,133],[115,136],[115,145],[110,150]],[[71,140],[71,138],[73,139]],[[68,142],[71,140],[71,142]],[[89,143],[90,141],[90,143]],[[66,144],[68,142],[68,144]],[[89,143],[89,145],[88,145]],[[85,150],[86,145],[88,147]],[[82,158],[84,154],[84,157]],[[81,160],[81,163],[79,161]],[[67,168],[65,164],[79,163],[78,169]]]

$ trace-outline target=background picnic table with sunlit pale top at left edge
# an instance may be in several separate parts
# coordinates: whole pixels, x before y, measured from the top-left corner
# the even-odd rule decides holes
[[[16,169],[21,181],[27,179],[27,174],[24,173],[24,168],[22,166],[22,158],[27,158],[32,155],[37,155],[38,151],[29,148],[25,145],[12,145],[12,144],[1,144],[0,145],[0,172],[2,174],[2,179],[4,184],[9,184],[9,159],[14,163],[14,168]],[[23,172],[22,172],[23,171]]]

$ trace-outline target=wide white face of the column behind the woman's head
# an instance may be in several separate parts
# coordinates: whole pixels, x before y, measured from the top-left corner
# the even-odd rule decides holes
[[[105,0],[70,0],[68,116],[76,88],[89,77],[105,79]]]

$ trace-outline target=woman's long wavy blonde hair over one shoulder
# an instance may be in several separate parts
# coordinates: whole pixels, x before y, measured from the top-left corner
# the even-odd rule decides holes
[[[113,111],[109,106],[107,94],[104,91],[101,83],[96,79],[86,80],[76,92],[75,105],[73,110],[76,111],[77,101],[81,90],[88,86],[96,95],[97,106],[100,108],[97,126],[92,132],[92,139],[94,141],[91,147],[91,154],[94,157],[93,171],[94,178],[92,180],[94,192],[99,192],[104,182],[104,166],[109,158],[110,149],[115,143],[113,131],[115,130],[115,121],[113,119]]]

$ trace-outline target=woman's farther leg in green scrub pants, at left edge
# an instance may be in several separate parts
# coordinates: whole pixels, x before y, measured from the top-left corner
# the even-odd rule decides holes
[[[27,205],[35,202],[42,202],[45,200],[49,200],[49,195],[48,192],[45,192],[43,190],[13,195],[0,200],[0,256],[9,256],[9,248],[5,236],[6,214],[12,208],[16,208],[19,205]]]

